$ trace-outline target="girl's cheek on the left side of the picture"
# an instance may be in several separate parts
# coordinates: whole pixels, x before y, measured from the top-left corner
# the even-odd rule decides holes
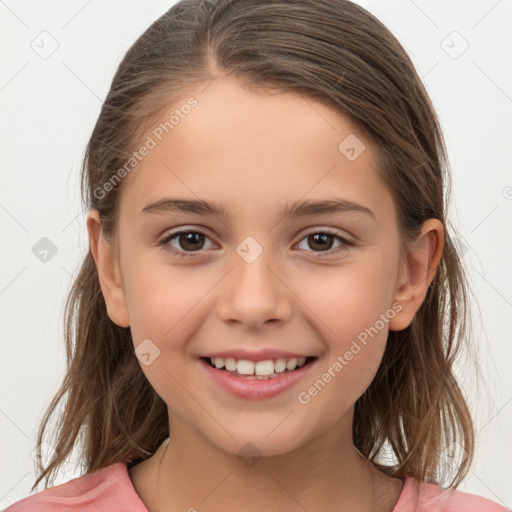
[[[190,400],[185,391],[189,370],[183,363],[188,341],[203,322],[198,305],[211,288],[199,274],[196,280],[193,272],[184,269],[172,269],[161,259],[148,265],[134,257],[125,285],[130,330],[141,369],[157,394],[178,409]],[[144,353],[150,354],[149,364],[144,363]]]

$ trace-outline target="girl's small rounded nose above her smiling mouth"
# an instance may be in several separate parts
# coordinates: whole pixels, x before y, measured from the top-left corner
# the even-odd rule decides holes
[[[222,321],[257,329],[282,323],[291,316],[293,295],[275,259],[263,251],[254,261],[234,255],[233,268],[223,280],[218,312]]]

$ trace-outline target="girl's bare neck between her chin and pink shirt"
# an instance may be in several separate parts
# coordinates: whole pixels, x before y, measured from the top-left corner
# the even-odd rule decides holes
[[[351,432],[340,435],[339,424],[286,454],[253,458],[173,426],[171,440],[142,463],[147,463],[146,483],[135,486],[149,512],[220,512],[234,503],[247,512],[361,512],[372,510],[376,496],[378,510],[391,511],[400,494],[401,481],[366,461],[353,446]],[[393,489],[389,480],[395,480]],[[389,495],[387,508],[382,507],[383,489]]]

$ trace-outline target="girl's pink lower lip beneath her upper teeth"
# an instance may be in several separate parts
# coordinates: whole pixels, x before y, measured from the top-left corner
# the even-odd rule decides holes
[[[226,370],[213,368],[213,366],[204,359],[199,359],[200,367],[204,368],[209,378],[211,378],[215,384],[239,398],[251,400],[272,398],[291,389],[310,372],[317,361],[318,359],[314,359],[296,370],[284,372],[279,377],[273,379],[259,380],[236,377]]]

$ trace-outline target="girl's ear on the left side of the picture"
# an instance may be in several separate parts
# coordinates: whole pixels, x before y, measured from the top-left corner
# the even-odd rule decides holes
[[[87,214],[87,231],[108,316],[120,327],[129,327],[128,307],[116,247],[104,238],[99,212],[96,209],[90,210]]]

